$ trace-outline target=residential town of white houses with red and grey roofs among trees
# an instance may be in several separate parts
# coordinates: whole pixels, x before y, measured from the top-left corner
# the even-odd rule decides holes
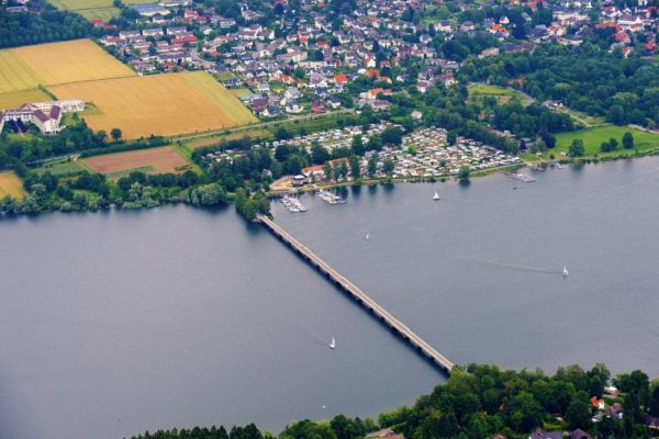
[[[315,0],[238,4],[129,4],[123,11],[131,20],[121,30],[112,20],[93,23],[108,32],[100,43],[137,71],[211,71],[266,119],[354,105],[388,110],[381,98],[394,92],[454,85],[468,53],[483,58],[530,53],[546,42],[577,46],[593,33],[612,34],[610,49],[625,57],[657,48],[657,7],[647,0],[633,9],[605,2],[594,21],[591,1],[568,0],[451,2],[454,14],[437,1],[361,0],[344,3],[350,13],[340,16]],[[415,23],[415,15],[429,24]],[[469,38],[478,43],[466,47]],[[438,53],[440,42],[455,44]]]

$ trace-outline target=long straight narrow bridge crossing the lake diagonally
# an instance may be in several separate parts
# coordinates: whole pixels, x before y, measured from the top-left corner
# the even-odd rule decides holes
[[[256,221],[268,228],[277,238],[289,246],[300,257],[311,263],[322,274],[327,277],[342,291],[346,292],[357,303],[364,306],[369,313],[376,316],[380,322],[388,326],[391,330],[398,334],[405,342],[411,345],[415,350],[426,357],[431,362],[437,365],[446,374],[450,374],[454,363],[437,351],[423,338],[414,334],[412,329],[405,326],[401,320],[395,318],[391,313],[380,306],[376,301],[370,299],[357,285],[342,275],[338,271],[330,267],[327,262],[316,256],[306,246],[291,236],[288,232],[281,228],[275,221],[265,215],[257,215]]]

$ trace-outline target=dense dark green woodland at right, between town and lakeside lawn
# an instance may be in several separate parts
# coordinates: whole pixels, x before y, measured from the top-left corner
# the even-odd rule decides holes
[[[530,54],[470,58],[459,77],[521,88],[539,101],[560,101],[616,125],[659,125],[659,65],[624,58],[619,49],[588,42],[580,47],[544,44]]]

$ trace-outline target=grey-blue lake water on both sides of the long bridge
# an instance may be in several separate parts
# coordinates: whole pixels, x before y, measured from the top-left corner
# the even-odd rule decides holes
[[[456,363],[658,375],[659,159],[534,177],[359,187],[273,213]],[[233,207],[3,219],[0,248],[8,438],[278,431],[375,416],[444,381]]]

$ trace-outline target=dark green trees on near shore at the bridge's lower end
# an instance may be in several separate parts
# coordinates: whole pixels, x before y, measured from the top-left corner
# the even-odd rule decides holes
[[[605,394],[610,383],[621,391],[618,395]],[[607,405],[619,404],[624,415],[593,423],[597,412],[590,403],[593,396]],[[523,437],[547,426],[582,429],[600,438],[650,438],[644,423],[647,415],[659,416],[659,379],[650,382],[638,370],[612,378],[601,363],[589,371],[579,365],[559,368],[554,375],[469,364],[456,369],[446,383],[413,406],[380,414],[377,423],[337,415],[331,420],[292,423],[277,436],[249,424],[228,432],[224,427],[196,427],[145,432],[133,439],[357,439],[386,427],[411,439],[477,439],[498,434]]]

